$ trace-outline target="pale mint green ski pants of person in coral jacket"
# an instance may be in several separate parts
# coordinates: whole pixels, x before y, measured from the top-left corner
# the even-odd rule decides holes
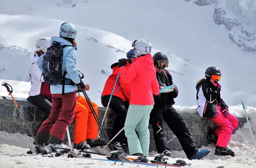
[[[130,155],[140,153],[143,154],[143,156],[148,156],[148,122],[153,106],[154,105],[129,105],[124,130],[128,141]],[[139,133],[139,139],[135,129]]]

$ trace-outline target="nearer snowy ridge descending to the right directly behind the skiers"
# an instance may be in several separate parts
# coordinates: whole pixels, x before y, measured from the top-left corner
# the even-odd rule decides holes
[[[0,24],[1,45],[1,79],[28,81],[27,67],[29,56],[35,51],[35,41],[44,36],[58,35],[59,25],[64,21],[53,20],[31,15],[1,14]],[[44,24],[44,27],[41,25]],[[78,70],[84,72],[83,81],[91,85],[88,92],[90,98],[101,106],[100,96],[108,75],[111,74],[111,64],[125,57],[131,49],[131,41],[98,29],[84,26],[78,27],[76,41],[78,43]],[[4,44],[2,44],[4,43]],[[13,46],[15,45],[15,46]],[[20,49],[20,52],[17,52]],[[153,49],[153,54],[156,52]],[[168,54],[168,53],[167,53]],[[204,76],[204,69],[191,64],[188,60],[169,54],[170,67],[167,68],[177,84],[180,92],[176,98],[177,105],[196,105],[195,84]],[[222,97],[229,105],[240,104],[244,98],[247,105],[256,104],[256,84],[250,79],[241,81],[237,76],[224,74],[221,79]],[[236,83],[237,87],[234,85]]]

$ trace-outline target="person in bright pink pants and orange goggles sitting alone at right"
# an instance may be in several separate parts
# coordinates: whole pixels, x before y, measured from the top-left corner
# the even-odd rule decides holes
[[[221,98],[221,71],[217,67],[208,67],[205,78],[196,84],[197,111],[200,116],[212,120],[217,127],[210,137],[216,137],[215,155],[235,156],[234,151],[227,148],[233,130],[239,124],[238,119],[229,113],[227,104]]]

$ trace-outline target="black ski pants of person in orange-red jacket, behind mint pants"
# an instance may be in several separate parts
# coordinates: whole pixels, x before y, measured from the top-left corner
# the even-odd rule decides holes
[[[104,107],[108,106],[110,96],[102,96],[101,101]],[[129,107],[128,101],[123,102],[121,98],[112,96],[109,107],[116,113],[116,118],[113,124],[111,139],[125,126],[125,119]],[[125,139],[125,130],[119,133],[112,142],[122,142]]]

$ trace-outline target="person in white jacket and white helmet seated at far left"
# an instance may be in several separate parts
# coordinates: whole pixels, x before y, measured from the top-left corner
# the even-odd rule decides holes
[[[40,38],[36,42],[36,48],[38,50],[35,51],[35,54],[32,55],[32,57],[29,59],[29,76],[31,78],[31,88],[29,91],[29,98],[27,100],[35,104],[45,113],[42,122],[44,122],[44,120],[49,117],[52,107],[52,99],[49,85],[44,82],[44,78],[41,70],[38,67],[37,61],[38,58],[43,55],[50,47],[50,41],[50,38]]]

